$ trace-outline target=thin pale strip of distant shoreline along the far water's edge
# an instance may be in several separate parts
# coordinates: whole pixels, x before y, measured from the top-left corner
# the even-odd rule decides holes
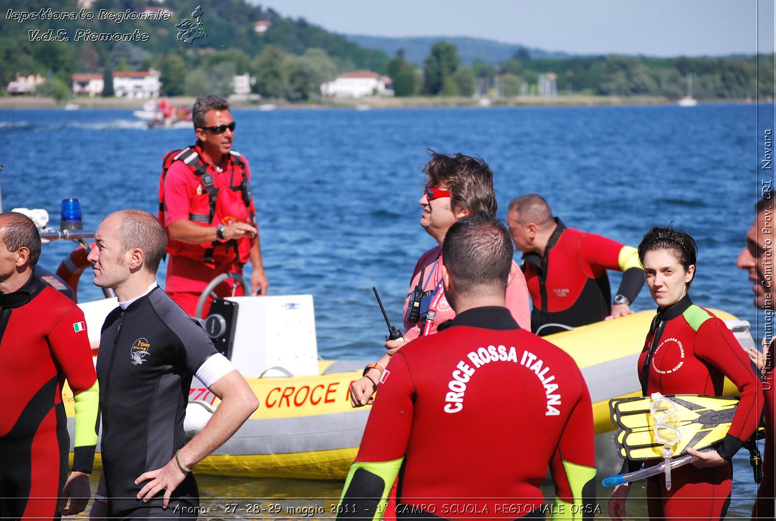
[[[161,98],[160,98],[161,99]],[[163,98],[175,106],[192,106],[195,99],[191,96],[169,96]],[[126,98],[74,98],[69,102],[78,105],[80,109],[142,109],[147,99]],[[753,102],[743,99],[715,99],[701,103],[743,103]],[[490,106],[644,106],[673,105],[673,100],[662,96],[556,96],[542,98],[539,96],[514,96],[494,99]],[[477,107],[482,106],[476,99],[463,96],[413,96],[407,98],[369,98],[369,99],[337,99],[325,103],[291,103],[285,100],[264,100],[262,102],[230,102],[231,106],[240,109],[260,109],[262,105],[274,105],[276,109],[400,109],[400,108],[432,108],[432,107]],[[0,97],[2,109],[57,109],[64,103],[57,103],[53,98],[36,96]],[[368,107],[367,107],[368,106]]]

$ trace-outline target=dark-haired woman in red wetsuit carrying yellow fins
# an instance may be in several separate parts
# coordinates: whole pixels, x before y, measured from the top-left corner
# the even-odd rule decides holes
[[[736,384],[740,403],[733,424],[716,450],[699,453],[691,465],[672,471],[666,490],[662,474],[647,481],[651,519],[722,519],[730,502],[733,457],[760,421],[762,387],[750,363],[725,323],[692,304],[688,290],[695,276],[698,248],[685,231],[652,228],[639,245],[639,259],[650,294],[658,305],[638,371],[644,396],[662,394],[722,394],[725,377]],[[625,460],[625,472],[636,470]],[[655,461],[657,463],[657,460]],[[630,465],[629,465],[630,464]],[[618,485],[609,500],[612,519],[625,518],[630,484]]]

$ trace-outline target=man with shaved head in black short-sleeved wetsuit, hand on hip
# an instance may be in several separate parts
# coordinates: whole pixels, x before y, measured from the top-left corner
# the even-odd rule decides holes
[[[199,322],[158,287],[166,246],[165,228],[154,216],[123,210],[102,220],[88,255],[95,285],[119,298],[102,326],[97,357],[102,477],[91,519],[191,516],[199,505],[192,467],[258,407]],[[187,443],[183,419],[194,375],[221,402]]]

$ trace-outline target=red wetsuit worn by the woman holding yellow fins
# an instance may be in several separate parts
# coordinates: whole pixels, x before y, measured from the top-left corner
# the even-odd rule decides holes
[[[729,460],[760,422],[762,385],[749,356],[723,321],[685,296],[656,314],[638,367],[644,396],[654,392],[720,396],[725,377],[738,387],[740,403],[733,424],[717,449],[728,463],[680,467],[671,473],[670,491],[660,477],[647,482],[652,519],[722,519],[733,478]]]

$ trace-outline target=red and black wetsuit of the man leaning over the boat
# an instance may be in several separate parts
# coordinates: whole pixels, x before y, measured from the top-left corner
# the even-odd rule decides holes
[[[556,218],[557,228],[547,241],[544,256],[523,255],[523,272],[533,312],[531,330],[545,324],[571,327],[604,320],[611,311],[611,288],[607,269],[623,272],[618,293],[631,302],[644,284],[644,272],[636,248],[601,235],[566,228]],[[541,335],[564,331],[547,326]]]

